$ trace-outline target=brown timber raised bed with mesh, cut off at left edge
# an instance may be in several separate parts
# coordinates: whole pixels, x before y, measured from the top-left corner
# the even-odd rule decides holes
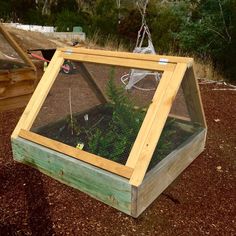
[[[36,67],[0,24],[0,112],[24,107],[38,82]]]

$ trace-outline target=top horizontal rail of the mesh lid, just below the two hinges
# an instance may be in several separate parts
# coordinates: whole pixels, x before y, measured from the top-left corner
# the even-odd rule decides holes
[[[62,53],[62,57],[68,60],[92,62],[103,65],[116,65],[121,67],[137,68],[137,69],[152,70],[152,71],[153,70],[173,71],[175,68],[175,64],[172,63],[159,64],[156,61],[144,61],[144,60],[129,59],[129,58],[125,59],[118,57],[107,57],[107,56],[89,55],[82,53],[67,54],[65,52]]]

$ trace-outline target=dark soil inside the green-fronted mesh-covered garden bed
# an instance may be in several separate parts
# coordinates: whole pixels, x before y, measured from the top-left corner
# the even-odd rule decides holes
[[[99,153],[90,150],[90,147],[88,145],[90,140],[89,135],[95,133],[98,129],[103,133],[109,132],[109,124],[112,120],[112,113],[113,110],[111,107],[109,108],[107,105],[98,105],[89,109],[88,111],[73,114],[73,122],[71,122],[70,116],[68,115],[63,119],[60,119],[56,122],[51,122],[45,126],[34,127],[31,131],[44,137],[70,145],[72,147],[76,147],[78,144],[82,144],[84,151],[92,152],[93,154],[99,156]],[[87,116],[88,120],[85,120],[85,116]],[[181,127],[181,123],[179,120],[173,118],[167,119],[165,128],[160,137],[160,142],[158,143],[152,157],[149,170],[156,166],[156,164],[159,163],[168,154],[177,149],[177,147],[183,144],[194,133],[200,131],[199,127],[194,127],[190,124],[190,122],[185,122],[184,125],[188,127],[188,130],[184,130]],[[137,134],[134,135],[134,137],[136,137]],[[117,147],[117,145],[113,143],[111,145],[108,144],[108,156],[102,157],[121,164],[125,164],[134,141],[135,139],[131,140],[131,142],[126,145],[125,151],[122,152],[122,154],[117,159],[112,158],[112,152],[114,148],[116,149],[119,147]]]

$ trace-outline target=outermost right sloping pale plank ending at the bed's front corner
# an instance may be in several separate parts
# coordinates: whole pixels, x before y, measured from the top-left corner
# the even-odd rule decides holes
[[[154,118],[150,121],[151,127],[148,135],[144,137],[141,152],[137,156],[137,163],[130,178],[131,185],[139,186],[142,183],[186,69],[185,63],[178,63],[165,95],[163,98],[157,97],[161,101],[157,102],[158,106],[153,114]]]

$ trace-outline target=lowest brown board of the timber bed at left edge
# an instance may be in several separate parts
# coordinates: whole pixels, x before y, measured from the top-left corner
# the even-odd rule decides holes
[[[11,97],[0,100],[0,112],[9,111],[16,108],[25,107],[29,102],[32,94],[25,94],[22,96]]]

